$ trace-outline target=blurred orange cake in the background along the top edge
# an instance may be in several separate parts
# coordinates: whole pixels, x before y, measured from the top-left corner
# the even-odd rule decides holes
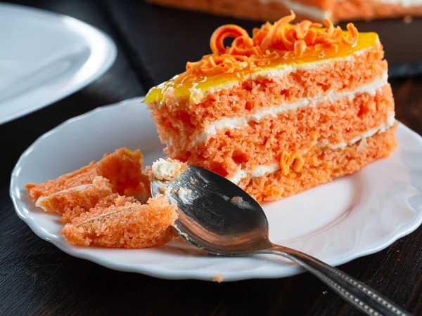
[[[278,20],[290,10],[298,18],[369,20],[422,15],[422,0],[148,0],[153,4],[253,20]]]

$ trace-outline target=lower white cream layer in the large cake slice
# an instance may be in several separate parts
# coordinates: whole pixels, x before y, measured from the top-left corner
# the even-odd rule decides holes
[[[388,114],[387,121],[385,123],[381,124],[380,126],[374,129],[369,129],[368,131],[362,133],[361,136],[358,136],[357,138],[353,138],[349,142],[338,143],[335,145],[329,145],[328,143],[322,142],[322,143],[316,143],[315,145],[318,147],[323,147],[323,148],[331,149],[331,150],[344,150],[345,147],[354,145],[355,143],[359,141],[364,141],[366,143],[366,138],[374,136],[376,133],[384,133],[385,131],[388,131],[388,129],[390,129],[394,125],[394,122],[395,122],[395,112],[390,112]],[[303,154],[306,154],[306,152],[303,152]],[[250,176],[252,176],[252,178],[259,178],[266,175],[267,173],[273,173],[279,170],[280,170],[279,162],[257,166],[255,169],[241,169],[241,167],[239,167],[238,171],[236,171],[236,173],[231,178],[229,178],[229,180],[231,180],[231,182],[233,183],[238,184],[239,182],[241,182],[243,178],[246,178],[249,174]]]

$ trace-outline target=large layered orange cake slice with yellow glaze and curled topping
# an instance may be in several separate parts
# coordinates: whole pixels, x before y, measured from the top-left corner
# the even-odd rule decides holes
[[[353,173],[396,147],[378,35],[294,19],[252,37],[219,27],[212,53],[145,98],[170,158],[215,171],[258,202]]]

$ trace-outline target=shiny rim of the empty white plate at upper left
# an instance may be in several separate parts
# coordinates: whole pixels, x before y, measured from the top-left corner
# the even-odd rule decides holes
[[[94,32],[98,36],[98,38],[102,38],[103,44],[105,44],[108,47],[108,56],[105,58],[104,62],[100,67],[97,67],[95,72],[91,74],[90,77],[85,77],[81,81],[79,81],[78,84],[75,86],[71,86],[70,88],[65,88],[63,90],[63,93],[60,94],[60,96],[55,96],[53,98],[50,98],[48,101],[44,103],[34,103],[32,106],[27,107],[23,110],[20,110],[18,112],[13,112],[12,114],[8,114],[7,116],[0,117],[0,125],[5,124],[9,121],[13,121],[14,119],[18,119],[20,117],[24,117],[27,114],[31,114],[32,112],[35,112],[37,110],[41,110],[44,107],[47,107],[49,105],[52,105],[53,103],[56,103],[59,100],[63,100],[63,98],[66,98],[70,96],[72,93],[75,93],[82,88],[88,86],[92,82],[96,81],[99,77],[101,77],[103,74],[105,74],[110,67],[114,64],[115,60],[117,59],[117,45],[115,44],[115,41],[103,30],[99,29],[98,27],[94,27],[94,25],[91,25],[87,22],[84,22],[82,20],[79,20],[77,18],[72,18],[70,15],[65,15],[62,13],[56,13],[53,11],[44,10],[41,8],[35,8],[32,6],[23,6],[20,4],[8,4],[8,3],[0,3],[0,9],[1,8],[8,8],[18,11],[23,11],[23,13],[34,13],[36,15],[44,15],[49,18],[53,18],[55,20],[68,20],[74,23],[75,25],[78,25],[79,31],[78,34],[81,34],[81,36],[84,39],[87,39],[87,36],[84,32]],[[84,32],[82,32],[82,30]],[[87,39],[87,44],[89,44],[89,48],[91,50],[96,49],[96,45],[92,44]],[[87,62],[85,62],[83,65],[88,65]]]

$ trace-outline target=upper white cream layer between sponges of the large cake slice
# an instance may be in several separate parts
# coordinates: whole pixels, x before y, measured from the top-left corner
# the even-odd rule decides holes
[[[277,105],[274,107],[269,107],[265,110],[257,111],[253,114],[249,115],[242,115],[238,117],[229,117],[224,119],[219,119],[217,121],[213,121],[209,124],[202,133],[196,138],[194,143],[200,143],[210,136],[213,136],[217,133],[217,131],[222,129],[240,129],[244,126],[248,126],[248,122],[250,121],[261,121],[264,117],[268,116],[275,116],[280,114],[281,112],[286,112],[288,110],[293,110],[298,107],[308,107],[308,106],[315,106],[321,102],[334,102],[343,98],[354,97],[362,93],[371,93],[373,96],[379,88],[384,86],[388,83],[388,73],[384,72],[381,77],[377,77],[373,79],[371,84],[365,84],[364,86],[360,86],[354,91],[344,91],[339,93],[326,93],[323,95],[316,96],[314,98],[302,98],[294,103],[281,103],[281,105]]]

